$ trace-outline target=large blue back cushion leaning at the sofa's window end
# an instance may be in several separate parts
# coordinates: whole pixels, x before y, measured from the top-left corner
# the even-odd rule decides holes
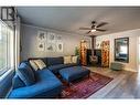
[[[17,74],[26,86],[35,83],[34,72],[25,62],[20,64],[19,69],[17,70]]]

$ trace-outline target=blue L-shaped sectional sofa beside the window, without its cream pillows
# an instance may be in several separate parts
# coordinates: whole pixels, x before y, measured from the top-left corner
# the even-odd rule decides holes
[[[39,57],[35,57],[39,59]],[[41,57],[40,57],[41,59]],[[62,56],[60,57],[43,57],[41,59],[46,65],[46,69],[34,71],[29,61],[20,64],[13,77],[13,90],[9,98],[52,98],[62,93],[63,84],[55,76],[60,70],[71,66],[76,66],[77,63],[64,64]]]

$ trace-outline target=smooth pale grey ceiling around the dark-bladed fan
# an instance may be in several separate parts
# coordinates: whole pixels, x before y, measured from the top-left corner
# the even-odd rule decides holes
[[[85,34],[80,27],[90,27],[93,20],[108,22],[103,35],[140,29],[140,7],[18,7],[22,22],[60,31]]]

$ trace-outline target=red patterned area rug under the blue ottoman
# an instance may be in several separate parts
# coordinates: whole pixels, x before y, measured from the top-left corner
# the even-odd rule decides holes
[[[111,77],[91,72],[90,77],[75,82],[71,86],[64,88],[62,98],[87,98],[111,81]]]

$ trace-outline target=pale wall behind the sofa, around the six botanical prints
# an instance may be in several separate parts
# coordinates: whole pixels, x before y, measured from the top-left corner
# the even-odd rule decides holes
[[[39,30],[61,34],[62,41],[64,44],[63,53],[39,51],[37,50],[37,39],[36,39]],[[83,39],[88,41],[89,43],[88,46],[90,48],[90,38],[79,35],[79,34],[73,34],[73,33],[51,30],[51,29],[43,29],[39,27],[33,27],[33,25],[22,24],[21,35],[22,35],[21,36],[21,45],[22,45],[21,60],[26,60],[29,57],[73,55],[75,53],[75,48],[79,46],[79,41]]]

